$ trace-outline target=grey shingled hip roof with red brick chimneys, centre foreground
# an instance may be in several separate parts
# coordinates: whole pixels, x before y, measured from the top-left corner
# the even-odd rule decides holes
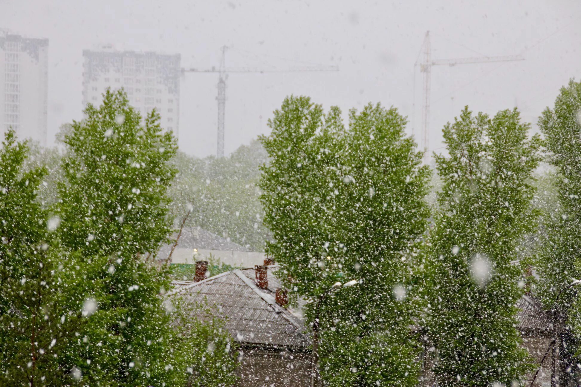
[[[216,305],[226,317],[225,327],[241,344],[297,349],[309,345],[302,320],[275,302],[272,286],[279,287],[278,280],[269,275],[269,289],[261,290],[253,275],[253,269],[239,269],[195,283],[174,281],[174,294]]]

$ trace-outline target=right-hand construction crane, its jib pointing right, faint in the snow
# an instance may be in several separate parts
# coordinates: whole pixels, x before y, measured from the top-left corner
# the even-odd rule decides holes
[[[419,71],[424,73],[424,95],[422,100],[422,145],[424,147],[424,162],[428,162],[428,144],[430,140],[430,92],[432,84],[432,66],[456,66],[457,64],[490,63],[490,62],[510,62],[513,60],[525,60],[521,55],[506,56],[483,56],[456,59],[432,60],[432,47],[430,43],[430,31],[426,31],[424,43],[422,44],[422,57]],[[417,66],[418,62],[415,62]]]

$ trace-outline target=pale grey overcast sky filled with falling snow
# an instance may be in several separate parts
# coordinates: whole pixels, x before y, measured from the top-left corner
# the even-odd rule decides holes
[[[442,126],[465,104],[490,114],[516,104],[536,126],[558,89],[581,77],[580,19],[581,2],[573,0],[0,0],[0,28],[49,39],[49,143],[61,124],[81,117],[83,49],[99,44],[180,53],[182,67],[218,66],[223,45],[232,67],[339,66],[229,75],[226,153],[268,133],[272,110],[289,94],[345,112],[393,105],[418,136],[422,76],[415,68],[414,109],[414,63],[426,30],[433,59],[525,58],[433,67],[431,150],[440,150]],[[180,147],[189,154],[216,153],[216,83],[217,74],[182,78]]]

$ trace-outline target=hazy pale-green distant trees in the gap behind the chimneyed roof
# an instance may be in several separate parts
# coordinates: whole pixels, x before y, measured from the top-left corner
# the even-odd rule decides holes
[[[259,165],[266,161],[260,143],[241,146],[229,157],[196,159],[178,153],[179,173],[169,190],[172,215],[183,219],[193,205],[187,226],[199,226],[253,251],[263,251],[268,231],[260,205]]]

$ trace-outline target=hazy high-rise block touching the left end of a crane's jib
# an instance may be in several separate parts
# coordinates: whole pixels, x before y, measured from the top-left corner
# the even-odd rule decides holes
[[[180,117],[180,55],[117,51],[110,46],[84,50],[83,102],[100,104],[110,87],[124,88],[142,115],[156,108],[162,128],[178,135]]]

